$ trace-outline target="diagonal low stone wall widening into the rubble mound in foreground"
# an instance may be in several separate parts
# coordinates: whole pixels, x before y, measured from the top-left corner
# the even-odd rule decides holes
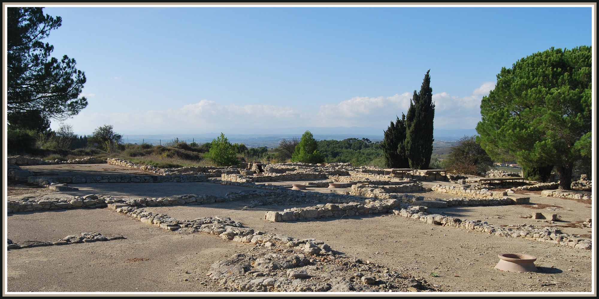
[[[238,291],[434,291],[422,277],[349,258],[316,239],[262,233],[228,217],[178,220],[131,206],[113,204],[110,208],[165,230],[202,232],[255,245],[247,254],[217,261],[207,273],[214,281]],[[353,274],[334,274],[340,271]]]

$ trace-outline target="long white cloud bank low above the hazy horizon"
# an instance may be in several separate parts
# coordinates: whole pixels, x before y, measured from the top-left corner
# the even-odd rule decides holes
[[[480,100],[492,83],[483,83],[470,96],[432,95],[435,127],[472,129],[480,120]],[[222,105],[212,100],[162,111],[90,112],[83,110],[69,121],[75,133],[90,133],[112,124],[116,132],[159,133],[267,133],[256,130],[285,127],[375,127],[386,128],[410,106],[412,93],[388,97],[353,97],[316,107],[274,105]]]

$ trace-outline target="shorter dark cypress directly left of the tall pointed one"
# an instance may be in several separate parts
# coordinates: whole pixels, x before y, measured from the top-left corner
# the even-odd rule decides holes
[[[409,162],[406,157],[404,140],[406,139],[406,115],[401,114],[401,120],[398,117],[385,131],[385,139],[380,146],[385,154],[385,164],[391,168],[407,168]]]

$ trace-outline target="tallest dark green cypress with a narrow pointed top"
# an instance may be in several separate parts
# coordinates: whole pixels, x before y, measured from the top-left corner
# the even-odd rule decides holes
[[[435,104],[432,103],[431,77],[426,71],[420,93],[414,91],[406,116],[406,140],[404,147],[410,168],[428,169],[432,155],[432,123]]]

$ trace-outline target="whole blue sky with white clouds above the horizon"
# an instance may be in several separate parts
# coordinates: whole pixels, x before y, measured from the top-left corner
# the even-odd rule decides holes
[[[435,128],[473,129],[502,67],[592,45],[591,7],[50,7],[77,60],[79,135],[377,127],[428,69]],[[53,121],[53,129],[60,123]],[[298,132],[301,134],[301,132]]]

